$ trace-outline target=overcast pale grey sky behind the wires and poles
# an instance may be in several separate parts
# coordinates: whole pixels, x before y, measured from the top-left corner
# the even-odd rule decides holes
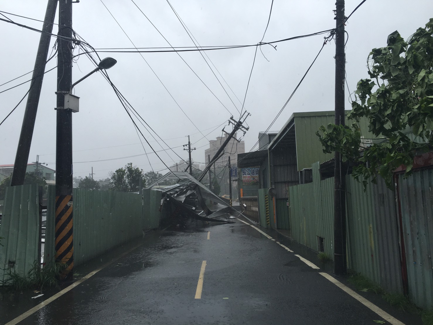
[[[134,2],[172,46],[194,46],[166,0]],[[346,1],[346,16],[360,2],[361,0]],[[135,46],[169,46],[132,1],[81,0],[73,5],[72,27],[94,48],[133,47],[103,3]],[[201,46],[258,43],[265,32],[271,7],[271,0],[171,0],[170,3]],[[45,0],[3,1],[0,5],[1,11],[39,20],[43,20],[45,9]],[[334,9],[334,0],[275,0],[263,41],[271,42],[332,29],[335,27]],[[424,27],[432,13],[433,2],[429,0],[367,0],[346,24],[349,35],[346,46],[349,91],[355,90],[359,79],[368,77],[366,59],[373,48],[385,46],[387,36],[395,30],[406,39],[418,27]],[[37,21],[3,14],[17,23],[42,29],[42,23]],[[58,22],[57,17],[55,22]],[[40,34],[3,21],[0,21],[0,26],[0,84],[3,84],[33,69]],[[53,33],[57,31],[58,27],[55,26]],[[260,51],[257,52],[245,101],[245,108],[251,113],[246,120],[250,129],[242,139],[246,142],[246,151],[252,148],[259,131],[266,130],[287,101],[320,50],[323,36],[280,42],[277,50],[265,45],[262,46],[263,55]],[[54,42],[53,37],[51,46],[54,46]],[[235,119],[239,118],[238,110],[242,107],[239,101],[243,101],[245,96],[254,52],[254,47],[206,52],[212,61],[209,62],[210,66],[231,99],[199,52],[183,52],[180,55],[218,99],[176,53],[143,53],[145,60],[178,104],[139,54],[100,53],[100,56],[116,58],[118,63],[107,70],[111,80],[168,146],[186,160],[187,151],[182,150],[182,145],[187,143],[185,136],[189,134],[193,146],[197,148],[192,153],[193,160],[203,163],[204,149],[209,146],[208,140],[221,136],[223,125],[227,125],[226,121],[231,114]],[[77,48],[74,54],[78,53]],[[278,131],[293,112],[334,109],[334,53],[335,43],[328,42],[271,130]],[[53,59],[48,62],[46,70],[56,64]],[[73,66],[73,82],[93,68],[89,58],[79,56]],[[1,86],[0,91],[30,78],[31,74],[19,78]],[[40,155],[39,161],[48,163],[48,167],[53,169],[55,81],[55,70],[45,75],[29,156],[29,162],[34,162],[36,155]],[[29,83],[0,94],[0,120],[15,107],[28,88]],[[346,89],[346,109],[350,109],[349,91]],[[137,135],[123,106],[100,72],[78,84],[74,93],[81,97],[80,112],[73,114],[74,176],[89,175],[93,166],[94,178],[102,179],[108,177],[110,171],[128,162],[145,172],[152,169],[165,172],[162,171],[164,164],[152,153],[142,137]],[[14,162],[25,103],[24,100],[0,126],[0,164]],[[156,142],[138,121],[137,123],[156,151],[168,149],[161,141]],[[230,131],[231,127],[226,127],[226,130]],[[149,155],[146,156],[145,152]],[[171,150],[158,154],[168,166],[181,160]],[[115,159],[126,156],[135,157]]]

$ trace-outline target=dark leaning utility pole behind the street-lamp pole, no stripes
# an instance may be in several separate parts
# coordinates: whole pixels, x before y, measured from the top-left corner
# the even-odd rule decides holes
[[[44,79],[45,64],[50,48],[51,33],[54,26],[57,0],[48,0],[45,10],[44,24],[36,53],[35,69],[27,96],[26,110],[24,111],[23,125],[19,135],[15,162],[10,180],[10,186],[23,185],[26,175],[27,161],[29,161],[30,145],[32,144],[33,129],[35,128],[36,112],[38,111],[39,97],[41,95],[42,81]]]

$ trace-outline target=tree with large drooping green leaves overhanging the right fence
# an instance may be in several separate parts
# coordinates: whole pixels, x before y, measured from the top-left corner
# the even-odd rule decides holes
[[[329,124],[316,133],[325,153],[339,151],[343,161],[355,162],[352,175],[392,187],[394,170],[433,146],[433,18],[405,41],[395,31],[387,46],[368,55],[370,78],[358,82],[349,126]],[[359,121],[368,121],[375,140],[363,148]]]

